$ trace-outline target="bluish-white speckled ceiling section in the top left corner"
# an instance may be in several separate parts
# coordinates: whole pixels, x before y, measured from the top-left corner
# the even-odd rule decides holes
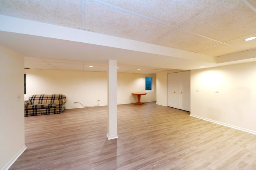
[[[0,14],[82,28],[81,0],[0,0]]]

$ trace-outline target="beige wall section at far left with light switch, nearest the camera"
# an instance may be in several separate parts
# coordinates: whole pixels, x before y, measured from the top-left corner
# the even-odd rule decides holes
[[[0,45],[0,169],[25,150],[23,67],[22,55]]]

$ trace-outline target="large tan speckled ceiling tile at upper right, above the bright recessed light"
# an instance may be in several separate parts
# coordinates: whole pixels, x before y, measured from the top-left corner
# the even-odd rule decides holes
[[[256,13],[241,0],[226,0],[182,28],[220,42],[226,42],[255,33],[255,21]]]

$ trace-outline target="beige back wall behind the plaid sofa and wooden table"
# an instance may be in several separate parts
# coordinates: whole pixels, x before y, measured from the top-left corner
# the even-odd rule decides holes
[[[24,69],[26,73],[25,99],[33,94],[64,94],[66,95],[67,109],[82,107],[74,104],[80,102],[85,106],[108,104],[108,79],[105,72],[61,71]],[[117,103],[134,103],[136,96],[132,92],[145,92],[145,77],[152,77],[154,91],[147,92],[141,101],[156,101],[156,75],[148,74],[117,74]]]

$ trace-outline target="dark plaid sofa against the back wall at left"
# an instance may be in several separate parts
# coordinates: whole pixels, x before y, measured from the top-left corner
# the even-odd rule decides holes
[[[25,116],[62,113],[65,103],[65,95],[32,95],[24,101]]]

